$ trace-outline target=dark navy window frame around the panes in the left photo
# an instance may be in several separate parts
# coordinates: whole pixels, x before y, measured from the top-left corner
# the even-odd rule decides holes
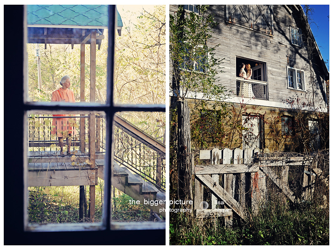
[[[109,12],[114,13],[115,6],[110,6]],[[16,17],[13,18],[13,13],[16,13]],[[21,13],[21,14],[20,14]],[[11,122],[4,124],[3,140],[6,141],[4,147],[4,163],[10,167],[4,168],[4,176],[12,176],[11,178],[4,178],[4,244],[11,245],[17,244],[17,241],[13,241],[13,237],[20,239],[20,244],[24,245],[50,245],[50,244],[61,244],[61,245],[89,245],[96,244],[98,238],[98,244],[147,244],[147,235],[150,235],[155,239],[154,244],[165,245],[165,229],[148,229],[148,227],[126,227],[120,230],[121,227],[118,225],[111,226],[110,224],[110,209],[105,212],[106,224],[103,228],[91,228],[89,231],[84,231],[82,224],[77,224],[76,229],[68,229],[70,231],[57,231],[54,229],[53,232],[27,232],[24,230],[24,213],[26,213],[26,199],[24,196],[24,179],[26,174],[24,172],[24,164],[26,164],[26,157],[23,153],[24,145],[23,138],[25,138],[26,131],[24,129],[26,125],[25,112],[27,110],[52,110],[53,105],[48,103],[27,103],[24,102],[24,82],[26,81],[25,63],[24,63],[24,24],[26,23],[25,8],[23,5],[5,5],[4,6],[4,32],[10,32],[13,27],[16,27],[18,32],[15,35],[15,39],[11,42],[13,49],[4,50],[4,117],[8,117]],[[114,27],[115,22],[111,20],[110,27]],[[22,29],[21,29],[22,28]],[[114,28],[109,29],[112,31],[110,37],[115,36]],[[19,32],[21,31],[21,32]],[[114,39],[110,39],[110,42]],[[111,42],[108,52],[113,55],[114,42]],[[15,48],[15,49],[14,49]],[[108,82],[112,83],[114,60],[112,56],[108,57]],[[21,70],[20,70],[21,69]],[[15,84],[14,84],[15,83]],[[107,116],[107,131],[110,133],[109,140],[107,142],[109,148],[111,145],[111,131],[113,126],[113,115],[116,112],[121,111],[146,111],[146,112],[166,112],[164,105],[117,105],[113,103],[113,86],[107,90],[110,99],[107,104],[88,104],[87,106],[80,105],[68,105],[66,103],[60,104],[63,110],[88,110],[88,111],[104,111]],[[9,118],[12,117],[12,118]],[[23,128],[23,129],[22,129]],[[111,157],[107,157],[107,163],[111,164]],[[109,177],[111,177],[111,171],[107,171]],[[109,182],[107,182],[109,183]],[[111,197],[110,184],[107,184],[105,195]],[[110,208],[110,204],[107,205]],[[12,215],[12,216],[9,216]],[[57,232],[55,232],[57,231]],[[53,240],[54,241],[53,241]],[[56,240],[55,240],[56,239]],[[89,240],[92,239],[93,241]]]

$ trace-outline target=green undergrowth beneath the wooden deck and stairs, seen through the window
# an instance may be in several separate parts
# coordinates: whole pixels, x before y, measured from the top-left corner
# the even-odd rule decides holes
[[[101,221],[102,218],[103,189],[104,181],[99,179],[95,197],[95,222]],[[89,188],[86,189],[86,197],[89,197]],[[128,195],[116,192],[112,204],[113,220],[148,221],[150,209],[142,204],[130,204],[130,199],[132,198]],[[89,200],[87,202],[89,203]],[[79,222],[79,187],[29,187],[28,221],[30,223]],[[89,216],[83,218],[83,221],[89,221]]]

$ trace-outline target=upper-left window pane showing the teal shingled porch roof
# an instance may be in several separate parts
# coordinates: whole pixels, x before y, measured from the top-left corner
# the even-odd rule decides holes
[[[29,101],[106,103],[108,5],[28,5],[27,26]]]

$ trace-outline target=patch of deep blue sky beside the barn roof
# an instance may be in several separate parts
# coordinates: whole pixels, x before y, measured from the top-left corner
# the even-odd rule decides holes
[[[311,30],[326,62],[329,61],[329,5],[310,5],[310,7],[314,9],[312,17],[317,24],[311,24]]]

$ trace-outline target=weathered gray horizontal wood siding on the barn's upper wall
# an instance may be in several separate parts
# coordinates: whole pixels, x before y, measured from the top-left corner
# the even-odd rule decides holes
[[[283,5],[273,5],[272,9],[273,35],[270,36],[264,32],[260,33],[238,24],[225,22],[225,5],[209,6],[208,12],[214,14],[214,20],[218,25],[211,31],[212,38],[207,44],[210,47],[220,44],[215,51],[216,57],[225,58],[222,65],[224,72],[218,75],[219,83],[236,92],[235,77],[240,70],[240,67],[236,66],[236,58],[246,58],[266,63],[270,101],[286,102],[287,99],[304,98],[307,92],[312,91],[307,51],[304,46],[293,45],[290,41],[290,25],[303,30],[303,24],[298,20],[298,14],[289,14]],[[176,10],[177,5],[170,5],[170,13]],[[269,12],[266,16],[270,16]],[[315,99],[325,107],[324,73],[319,56],[314,55],[312,62],[312,70],[316,77]],[[306,91],[288,88],[288,66],[304,71]]]

